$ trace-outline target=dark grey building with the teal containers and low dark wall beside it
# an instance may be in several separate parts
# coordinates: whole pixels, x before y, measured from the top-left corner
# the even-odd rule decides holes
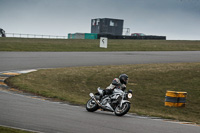
[[[91,33],[69,33],[68,39],[138,39],[138,40],[166,40],[166,36],[144,35],[135,33],[122,35],[123,29],[130,32],[130,28],[123,28],[124,20],[112,18],[96,18],[91,20]]]

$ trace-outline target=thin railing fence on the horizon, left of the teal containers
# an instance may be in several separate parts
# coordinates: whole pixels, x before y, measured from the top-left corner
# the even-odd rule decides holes
[[[6,33],[6,37],[68,39],[68,36],[36,35],[36,34],[20,34],[20,33]]]

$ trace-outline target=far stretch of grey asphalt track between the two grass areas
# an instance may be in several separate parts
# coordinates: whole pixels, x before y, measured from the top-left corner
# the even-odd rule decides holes
[[[185,52],[0,52],[0,72],[69,66],[200,62],[200,51]]]

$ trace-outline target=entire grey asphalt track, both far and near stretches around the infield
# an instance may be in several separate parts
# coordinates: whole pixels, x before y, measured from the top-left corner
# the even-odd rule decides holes
[[[200,62],[187,52],[0,52],[0,72],[70,66]],[[89,96],[88,96],[89,98]],[[0,89],[0,125],[47,133],[199,133],[200,127],[159,118],[51,102]]]

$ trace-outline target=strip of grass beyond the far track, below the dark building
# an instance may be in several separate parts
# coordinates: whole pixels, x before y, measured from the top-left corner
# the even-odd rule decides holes
[[[199,51],[200,41],[108,40],[99,48],[99,39],[0,38],[0,51]]]

